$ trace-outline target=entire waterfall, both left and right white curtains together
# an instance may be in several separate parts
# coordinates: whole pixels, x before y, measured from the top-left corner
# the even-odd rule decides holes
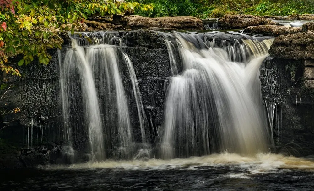
[[[127,54],[127,34],[75,33],[64,60],[59,56],[62,156],[70,163],[79,153],[101,161],[149,158],[151,151],[171,159],[268,150],[273,113],[266,113],[262,101],[259,68],[272,38],[232,31],[154,31],[167,48],[172,76],[157,130],[153,124],[149,129],[146,115],[151,113],[144,109]],[[152,132],[160,137],[158,143],[149,141]]]

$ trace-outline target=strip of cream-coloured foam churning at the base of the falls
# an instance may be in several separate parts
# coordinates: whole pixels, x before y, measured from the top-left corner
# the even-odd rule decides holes
[[[313,171],[314,173],[314,160],[273,153],[257,153],[253,156],[221,153],[202,157],[175,158],[171,160],[106,160],[103,162],[88,162],[72,165],[51,165],[40,168],[47,170],[103,168],[144,171],[158,169],[204,170],[206,167],[213,168],[224,166],[241,168],[248,172],[245,176],[261,173],[279,173],[285,170]]]

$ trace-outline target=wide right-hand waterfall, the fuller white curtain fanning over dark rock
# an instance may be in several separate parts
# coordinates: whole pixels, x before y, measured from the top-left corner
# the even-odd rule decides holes
[[[178,44],[183,72],[168,87],[161,157],[267,151],[269,129],[259,67],[273,39],[217,44],[205,36],[205,48],[198,39],[177,33],[173,41]]]

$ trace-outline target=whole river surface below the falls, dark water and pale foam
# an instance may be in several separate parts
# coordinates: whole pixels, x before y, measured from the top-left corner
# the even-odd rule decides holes
[[[313,190],[314,160],[223,153],[2,171],[0,190]],[[4,176],[3,176],[4,175]]]

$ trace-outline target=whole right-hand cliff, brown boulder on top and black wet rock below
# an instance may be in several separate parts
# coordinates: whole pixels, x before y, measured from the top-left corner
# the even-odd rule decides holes
[[[303,28],[303,27],[302,27]],[[313,31],[275,38],[261,69],[263,97],[276,104],[273,125],[278,152],[314,154]]]

